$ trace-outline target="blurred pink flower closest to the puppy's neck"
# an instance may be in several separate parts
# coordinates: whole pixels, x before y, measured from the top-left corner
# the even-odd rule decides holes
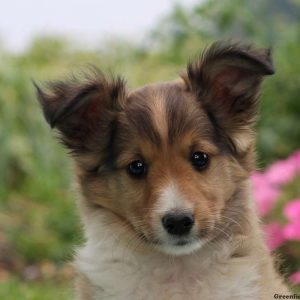
[[[279,189],[270,185],[262,173],[254,173],[251,179],[258,213],[260,216],[265,216],[277,201],[280,194]]]

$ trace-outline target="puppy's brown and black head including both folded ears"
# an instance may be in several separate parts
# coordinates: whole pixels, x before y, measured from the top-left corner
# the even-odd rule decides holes
[[[37,91],[74,155],[86,201],[180,255],[238,223],[259,86],[273,73],[268,51],[217,42],[180,81],[127,91],[95,71]]]

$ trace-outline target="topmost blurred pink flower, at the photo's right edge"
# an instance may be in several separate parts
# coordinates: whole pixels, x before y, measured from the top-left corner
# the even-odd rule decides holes
[[[270,184],[281,185],[290,182],[297,172],[295,161],[298,157],[287,160],[278,160],[273,163],[265,172],[267,181]]]

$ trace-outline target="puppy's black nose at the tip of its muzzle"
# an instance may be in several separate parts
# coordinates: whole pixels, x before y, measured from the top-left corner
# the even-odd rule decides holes
[[[191,213],[170,213],[162,218],[162,224],[169,234],[182,236],[188,234],[194,223]]]

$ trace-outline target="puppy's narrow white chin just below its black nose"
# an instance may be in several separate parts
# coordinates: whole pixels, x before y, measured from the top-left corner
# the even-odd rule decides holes
[[[181,243],[161,243],[156,245],[156,249],[167,255],[181,256],[188,255],[201,249],[205,244],[202,240],[190,241],[184,244]]]

